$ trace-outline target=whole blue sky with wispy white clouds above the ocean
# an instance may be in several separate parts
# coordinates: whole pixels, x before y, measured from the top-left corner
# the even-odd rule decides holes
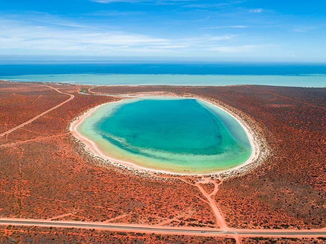
[[[1,1],[0,55],[326,62],[326,1]]]

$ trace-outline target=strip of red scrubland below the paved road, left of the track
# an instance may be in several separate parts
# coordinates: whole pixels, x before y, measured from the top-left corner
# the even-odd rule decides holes
[[[235,243],[233,238],[0,225],[1,243]]]

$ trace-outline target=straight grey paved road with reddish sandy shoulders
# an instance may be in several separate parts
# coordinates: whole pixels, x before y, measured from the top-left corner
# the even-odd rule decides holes
[[[156,228],[156,227],[141,227],[141,226],[123,226],[123,225],[111,225],[111,224],[98,224],[98,223],[65,223],[56,221],[28,221],[28,220],[0,220],[0,224],[12,224],[12,225],[37,225],[37,226],[57,226],[57,227],[75,227],[75,228],[103,228],[117,231],[149,231],[149,232],[175,232],[182,234],[200,234],[200,230],[192,229],[172,229],[172,228]],[[309,230],[263,230],[263,231],[242,231],[242,230],[205,230],[206,234],[224,234],[224,235],[244,235],[244,236],[298,236],[298,235],[309,235],[309,236],[326,236],[326,230],[320,231],[309,231]]]

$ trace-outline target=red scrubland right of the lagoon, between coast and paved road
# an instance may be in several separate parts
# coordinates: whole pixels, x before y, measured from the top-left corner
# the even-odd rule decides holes
[[[263,164],[225,180],[216,193],[228,226],[325,227],[325,88],[101,86],[91,91],[174,92],[224,104],[242,120],[259,126],[271,150]]]

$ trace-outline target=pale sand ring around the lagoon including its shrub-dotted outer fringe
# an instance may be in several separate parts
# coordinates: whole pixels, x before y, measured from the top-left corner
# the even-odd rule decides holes
[[[158,95],[159,96],[159,95]],[[172,96],[171,96],[172,97]],[[182,96],[174,96],[174,97],[182,97]],[[186,97],[189,98],[189,97]],[[77,127],[82,123],[82,121],[90,116],[96,109],[98,109],[99,107],[108,104],[108,103],[104,103],[101,105],[98,105],[88,111],[86,111],[84,114],[82,114],[81,116],[77,117],[71,124],[70,124],[70,131],[72,132],[72,134],[78,139],[81,140],[84,144],[85,144],[85,149],[93,152],[97,157],[103,158],[105,160],[107,160],[107,162],[114,164],[114,166],[120,166],[120,167],[127,167],[130,168],[130,170],[138,170],[141,172],[155,172],[155,173],[161,173],[161,174],[170,174],[170,175],[215,175],[215,174],[221,174],[223,175],[223,177],[230,177],[230,176],[235,176],[235,175],[239,175],[239,174],[243,174],[244,172],[247,172],[249,169],[252,169],[255,167],[255,165],[258,165],[259,163],[254,163],[257,162],[258,159],[261,159],[262,157],[262,152],[260,150],[260,145],[262,145],[263,141],[262,140],[262,136],[257,135],[256,133],[253,133],[254,131],[257,131],[257,128],[251,128],[251,126],[249,126],[246,122],[244,122],[241,118],[241,116],[239,116],[237,113],[234,113],[233,110],[230,110],[230,108],[228,108],[226,105],[224,104],[218,104],[216,103],[216,101],[211,101],[211,100],[207,100],[201,97],[195,97],[192,96],[192,98],[194,99],[200,99],[202,101],[205,101],[207,103],[210,103],[220,109],[222,109],[224,112],[230,114],[244,129],[245,133],[248,136],[248,139],[250,141],[250,145],[252,147],[252,153],[250,155],[250,157],[243,162],[241,165],[238,165],[234,168],[228,169],[228,170],[222,170],[222,171],[218,171],[218,172],[212,172],[212,173],[205,173],[205,174],[189,174],[189,173],[177,173],[177,172],[170,172],[170,171],[164,171],[164,170],[155,170],[155,169],[151,169],[151,168],[146,168],[146,167],[142,167],[139,166],[135,163],[132,162],[128,162],[128,161],[123,161],[123,160],[118,160],[118,159],[114,159],[111,158],[110,156],[106,155],[105,152],[103,152],[97,145],[95,142],[91,141],[90,139],[86,138],[85,136],[83,136],[82,134],[80,134],[77,131]],[[134,99],[134,98],[129,98],[129,99]],[[121,100],[119,100],[121,101]],[[119,101],[114,101],[114,102],[119,102]],[[112,103],[112,102],[110,102]],[[261,161],[261,160],[259,160]],[[253,164],[254,163],[254,164]],[[250,167],[246,167],[248,165],[251,165]]]

